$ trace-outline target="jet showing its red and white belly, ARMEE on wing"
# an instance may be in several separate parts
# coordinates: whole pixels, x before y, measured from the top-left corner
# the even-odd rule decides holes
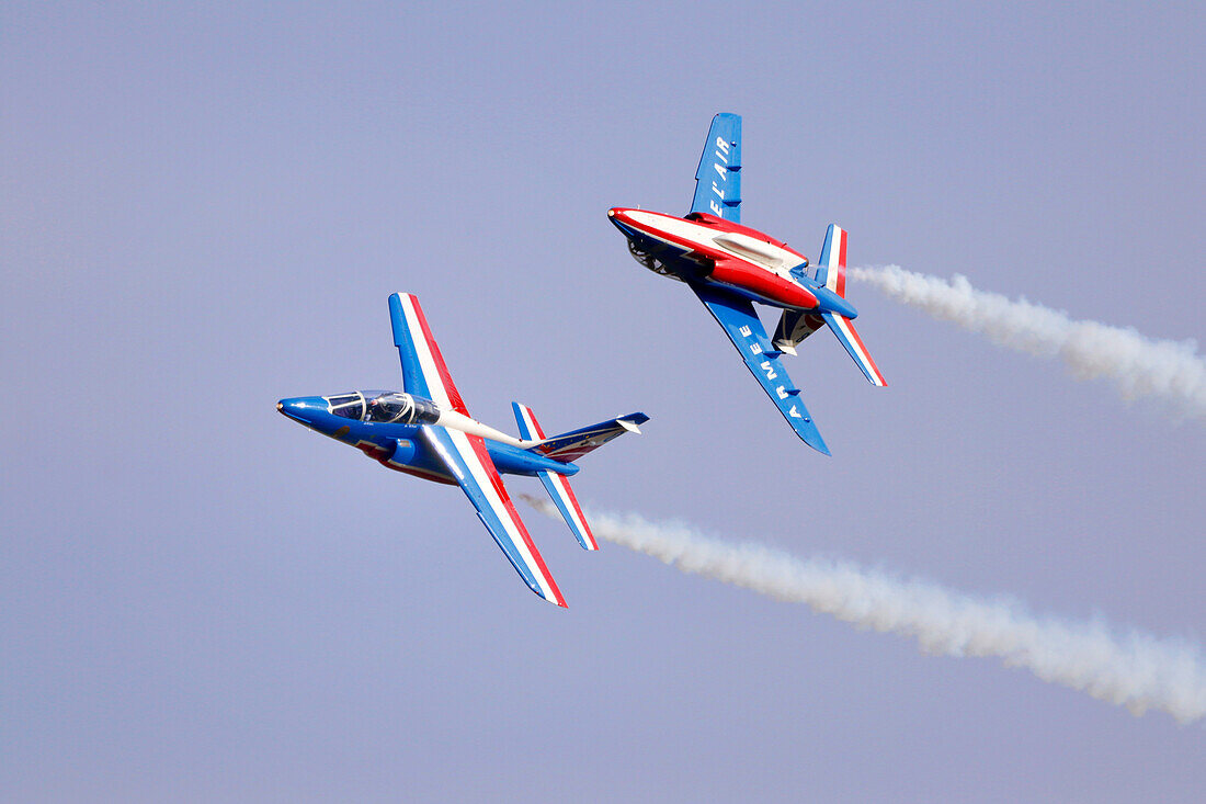
[[[845,298],[845,232],[830,225],[816,269],[809,272],[804,255],[740,225],[740,170],[742,118],[716,115],[685,217],[624,206],[608,210],[608,217],[637,262],[699,297],[796,435],[829,455],[779,357],[795,355],[804,338],[829,325],[867,379],[886,385],[851,322],[859,313]],[[773,340],[754,302],[783,309]]]

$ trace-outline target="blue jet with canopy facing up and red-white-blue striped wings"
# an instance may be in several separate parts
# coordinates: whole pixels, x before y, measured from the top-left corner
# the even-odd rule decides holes
[[[532,409],[513,402],[520,438],[469,416],[418,299],[390,297],[393,343],[402,359],[403,391],[351,391],[281,400],[276,409],[324,436],[355,447],[382,466],[426,480],[459,485],[528,588],[566,606],[499,473],[539,477],[578,542],[598,549],[566,479],[573,462],[626,432],[639,433],[644,413],[546,438]]]

